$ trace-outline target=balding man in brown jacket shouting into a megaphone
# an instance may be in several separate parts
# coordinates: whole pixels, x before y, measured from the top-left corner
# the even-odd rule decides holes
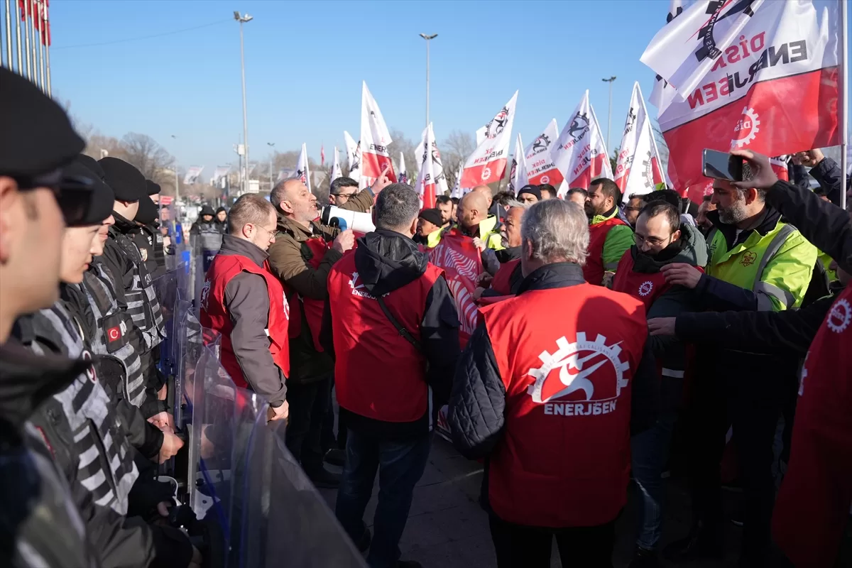
[[[337,182],[341,180],[346,178]],[[386,168],[371,188],[354,193],[338,206],[365,213],[389,183]],[[348,184],[346,189],[350,189]],[[316,196],[298,178],[279,181],[269,200],[278,212],[278,233],[269,249],[269,264],[285,285],[291,309],[291,374],[287,379],[290,422],[285,442],[314,485],[337,487],[339,476],[323,467],[320,446],[334,361],[323,353],[319,337],[328,300],[328,273],[343,253],[352,249],[355,237],[351,229],[342,231],[320,221]]]

